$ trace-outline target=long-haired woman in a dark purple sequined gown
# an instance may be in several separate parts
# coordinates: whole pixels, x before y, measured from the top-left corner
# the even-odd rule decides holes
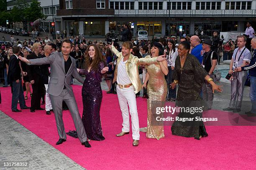
[[[77,69],[85,75],[82,87],[83,116],[82,122],[89,140],[104,140],[100,121],[100,105],[102,100],[102,90],[100,82],[102,75],[108,71],[99,47],[89,45],[85,57],[85,69]]]

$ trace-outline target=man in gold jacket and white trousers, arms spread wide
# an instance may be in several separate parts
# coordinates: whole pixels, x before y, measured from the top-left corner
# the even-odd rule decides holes
[[[142,86],[138,74],[138,65],[153,64],[154,62],[161,62],[166,59],[164,55],[154,58],[138,58],[131,54],[133,45],[129,41],[123,42],[122,52],[116,50],[113,43],[109,47],[118,57],[113,82],[117,81],[118,83],[116,90],[123,117],[122,132],[116,136],[123,136],[130,131],[129,105],[133,130],[133,146],[138,146],[140,134],[135,94],[141,90]]]

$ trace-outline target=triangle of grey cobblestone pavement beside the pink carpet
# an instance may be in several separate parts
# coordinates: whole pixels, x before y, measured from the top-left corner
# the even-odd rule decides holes
[[[0,170],[84,170],[0,111]],[[28,162],[27,168],[4,168],[3,162]]]

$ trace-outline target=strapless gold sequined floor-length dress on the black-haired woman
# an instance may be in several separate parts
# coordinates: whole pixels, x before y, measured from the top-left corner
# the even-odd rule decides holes
[[[157,66],[158,67],[157,67]],[[162,117],[162,115],[156,114],[156,107],[164,107],[165,97],[167,95],[167,83],[164,78],[159,64],[148,65],[147,72],[148,78],[148,118],[147,118],[147,138],[164,138],[164,125],[162,121],[156,121],[156,117]]]

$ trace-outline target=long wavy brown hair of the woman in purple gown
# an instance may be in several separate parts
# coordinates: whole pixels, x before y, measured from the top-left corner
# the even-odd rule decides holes
[[[89,55],[89,48],[93,46],[94,49],[95,49],[95,56],[94,56],[94,59],[92,60],[92,62],[90,61],[90,55]],[[95,45],[95,44],[90,44],[87,49],[86,49],[86,52],[85,54],[87,54],[85,56],[85,62],[84,62],[84,67],[86,69],[88,69],[88,67],[91,66],[91,70],[97,70],[98,69],[98,65],[99,65],[99,62],[104,62],[104,65],[106,65],[106,61],[105,61],[105,58],[104,58],[104,55],[102,54],[100,48]]]

